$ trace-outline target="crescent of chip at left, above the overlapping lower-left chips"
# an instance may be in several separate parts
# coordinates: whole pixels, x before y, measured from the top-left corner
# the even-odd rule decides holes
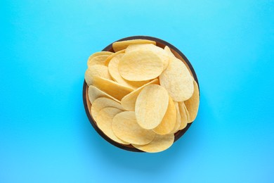
[[[107,107],[118,108],[119,110],[124,111],[124,108],[117,101],[113,101],[112,99],[107,99],[105,97],[100,97],[93,101],[91,106],[91,115],[94,118],[94,120],[97,120],[96,117],[99,111]]]

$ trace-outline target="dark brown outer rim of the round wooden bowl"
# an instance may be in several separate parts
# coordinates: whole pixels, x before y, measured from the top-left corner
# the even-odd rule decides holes
[[[169,46],[169,48],[173,49],[174,51],[176,51],[184,60],[185,62],[188,64],[188,67],[190,68],[192,74],[193,74],[193,77],[194,77],[194,80],[197,82],[198,84],[198,87],[199,87],[199,82],[198,82],[198,79],[197,79],[197,75],[195,73],[195,70],[193,69],[193,65],[191,65],[190,61],[188,61],[188,58],[185,57],[185,55],[180,51],[178,50],[175,46],[173,46],[172,44],[169,44],[168,42],[165,42],[164,40],[162,39],[158,39],[156,37],[149,37],[149,36],[132,36],[132,37],[126,37],[126,38],[123,38],[123,39],[119,39],[117,40],[116,42],[119,42],[119,41],[126,41],[126,40],[131,40],[131,39],[149,39],[149,40],[152,40],[152,41],[155,41],[155,42],[159,42],[161,44],[164,44],[164,45],[167,45]],[[103,49],[102,51],[113,51],[112,49],[112,44],[108,45],[105,47],[105,49]],[[126,151],[133,151],[133,152],[143,152],[139,149],[136,149],[134,148],[133,146],[124,146],[123,144],[119,144],[117,143],[116,141],[113,141],[112,139],[110,139],[109,137],[107,137],[99,128],[98,126],[96,125],[96,122],[94,122],[94,119],[92,118],[92,116],[90,115],[89,113],[89,108],[88,108],[88,105],[86,103],[86,87],[87,87],[87,84],[86,84],[86,81],[84,80],[84,85],[83,85],[83,101],[84,101],[84,108],[85,108],[85,111],[86,111],[86,115],[87,117],[89,118],[89,122],[91,122],[91,125],[93,126],[93,128],[96,130],[96,132],[98,132],[98,134],[100,134],[101,137],[103,137],[103,139],[105,139],[106,141],[108,141],[110,144],[114,145],[114,146],[117,146],[119,147],[120,149],[124,149]],[[199,87],[199,91],[200,91],[200,87]],[[186,131],[188,131],[190,125],[192,124],[193,122],[191,123],[188,123],[188,125],[183,129],[183,130],[180,130],[178,132],[176,132],[176,134],[174,134],[175,138],[174,138],[174,142],[177,141],[178,139],[180,139],[183,134],[185,134]]]

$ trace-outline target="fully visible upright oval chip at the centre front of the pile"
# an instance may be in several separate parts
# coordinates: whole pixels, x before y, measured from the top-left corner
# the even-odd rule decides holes
[[[169,94],[164,87],[157,84],[144,87],[135,104],[138,124],[148,130],[157,127],[164,118],[168,105]]]

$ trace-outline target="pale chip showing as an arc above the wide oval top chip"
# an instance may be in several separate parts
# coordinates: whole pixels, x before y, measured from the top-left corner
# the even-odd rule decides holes
[[[126,48],[126,53],[131,51],[152,51],[163,61],[163,70],[169,65],[169,54],[164,49],[155,46],[154,44],[131,44]]]

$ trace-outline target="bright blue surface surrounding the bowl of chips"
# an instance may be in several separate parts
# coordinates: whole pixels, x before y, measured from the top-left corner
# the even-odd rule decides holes
[[[274,182],[274,1],[0,1],[0,182]],[[200,81],[190,130],[132,153],[91,127],[89,55],[149,35]]]

